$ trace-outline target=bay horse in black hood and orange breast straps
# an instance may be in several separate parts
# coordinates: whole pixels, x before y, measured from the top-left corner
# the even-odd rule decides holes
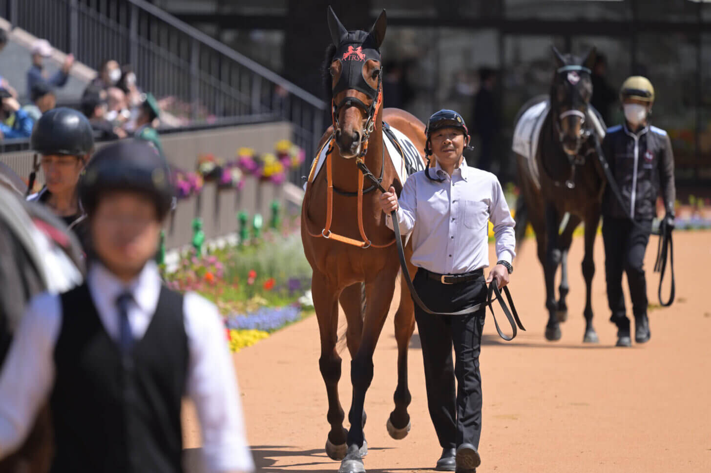
[[[404,183],[383,143],[383,120],[410,138],[417,150],[424,151],[425,142],[424,124],[415,116],[382,107],[380,45],[386,23],[383,10],[368,33],[347,31],[328,7],[333,43],[326,50],[324,82],[331,96],[333,125],[319,143],[322,150],[328,146],[326,172],[322,170],[313,177],[312,169],[301,209],[301,239],[313,269],[311,292],[321,338],[319,368],[326,384],[326,418],[331,425],[326,453],[333,460],[342,460],[339,471],[343,473],[365,472],[365,392],[373,379],[373,352],[400,268],[394,234],[385,226],[385,214],[378,204],[379,193],[374,186],[364,185],[356,164],[365,163],[373,175],[381,176],[383,187],[392,185],[399,194]],[[424,163],[423,151],[417,151],[417,158]],[[412,243],[406,246],[405,253],[409,262]],[[415,267],[409,264],[408,268],[414,275]],[[343,428],[344,413],[338,399],[339,302],[346,315],[346,344],[352,359],[353,398],[348,431]],[[400,305],[394,322],[397,387],[395,409],[386,426],[391,437],[402,439],[410,430],[407,347],[415,330],[414,304],[405,284],[400,285]]]

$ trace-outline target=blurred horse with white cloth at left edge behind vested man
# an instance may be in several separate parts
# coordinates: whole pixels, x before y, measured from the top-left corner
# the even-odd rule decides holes
[[[63,232],[65,225],[46,208],[24,202],[23,181],[0,166],[0,369],[9,351],[12,334],[31,296],[43,290],[65,290],[80,282],[83,270],[80,244],[70,232],[63,246],[43,232],[45,226]],[[52,234],[53,232],[49,232]],[[45,239],[43,250],[37,239]],[[46,473],[50,469],[54,439],[49,406],[43,406],[21,447],[0,460],[0,473]]]

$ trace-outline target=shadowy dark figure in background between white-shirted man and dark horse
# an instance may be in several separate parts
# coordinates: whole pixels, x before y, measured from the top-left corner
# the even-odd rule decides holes
[[[481,170],[491,170],[496,139],[499,131],[499,119],[493,89],[496,85],[496,71],[491,67],[479,70],[479,92],[474,97],[474,128],[481,139],[481,154],[476,166]]]

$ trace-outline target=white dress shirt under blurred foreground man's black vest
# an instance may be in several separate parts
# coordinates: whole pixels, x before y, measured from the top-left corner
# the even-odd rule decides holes
[[[141,339],[158,305],[161,279],[149,262],[129,285],[99,263],[90,267],[87,284],[109,337],[119,341],[115,300],[129,290],[128,319],[134,339]],[[201,425],[203,455],[210,472],[252,472],[237,376],[225,340],[225,328],[215,305],[195,293],[183,298],[188,337],[187,394],[195,403]],[[54,349],[62,325],[58,295],[33,298],[14,336],[0,374],[0,458],[14,451],[29,433],[39,408],[48,400],[54,379]],[[81,386],[77,386],[80,389]]]

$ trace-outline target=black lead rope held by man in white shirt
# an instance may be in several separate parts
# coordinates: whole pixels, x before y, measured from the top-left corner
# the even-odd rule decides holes
[[[378,179],[375,178],[373,173],[370,172],[368,167],[363,163],[363,161],[358,161],[356,163],[358,165],[358,169],[360,170],[361,173],[363,173],[363,176],[365,178],[368,178],[369,180],[373,181],[373,184],[378,187],[378,190],[380,192],[387,192],[385,188],[383,188],[383,185],[381,185],[378,182]],[[513,340],[518,333],[518,330],[516,329],[516,326],[518,325],[518,328],[521,330],[525,331],[525,328],[523,328],[523,324],[521,323],[520,318],[518,317],[518,312],[516,312],[515,305],[513,305],[513,298],[511,298],[511,293],[509,292],[508,288],[506,286],[503,287],[503,293],[506,294],[506,299],[508,300],[508,305],[510,306],[511,310],[508,309],[508,306],[503,300],[503,297],[501,296],[501,290],[499,290],[498,286],[496,285],[496,279],[491,281],[491,283],[488,286],[488,291],[486,295],[486,302],[485,303],[479,303],[476,305],[473,305],[469,308],[462,309],[462,310],[457,310],[456,312],[434,312],[434,310],[430,310],[427,305],[424,305],[424,302],[422,302],[422,299],[419,298],[419,295],[417,295],[417,290],[415,290],[415,286],[412,285],[412,278],[410,278],[410,271],[407,269],[407,261],[405,260],[405,249],[402,247],[402,237],[400,235],[400,226],[397,224],[397,210],[393,210],[390,212],[390,217],[392,218],[392,229],[395,232],[395,244],[397,244],[397,257],[400,259],[400,268],[402,268],[402,276],[405,278],[405,282],[407,283],[407,288],[410,288],[410,294],[412,294],[412,300],[415,301],[417,305],[419,305],[419,308],[424,310],[424,312],[427,312],[428,314],[432,315],[469,315],[473,314],[474,312],[479,312],[481,308],[485,308],[488,306],[489,310],[491,310],[491,315],[493,316],[493,322],[494,325],[496,325],[496,332],[498,332],[499,337],[505,339],[507,342],[510,340]],[[496,296],[496,297],[494,297]],[[508,335],[504,334],[501,331],[501,328],[498,326],[498,322],[496,321],[496,314],[493,312],[493,303],[494,301],[498,300],[499,305],[501,305],[501,309],[503,310],[503,313],[506,315],[506,318],[508,319],[508,323],[511,325],[511,329],[513,330],[513,333],[510,337]],[[513,313],[512,313],[513,312]]]

